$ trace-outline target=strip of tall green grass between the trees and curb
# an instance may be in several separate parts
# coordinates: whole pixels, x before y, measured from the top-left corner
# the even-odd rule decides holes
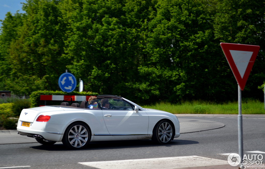
[[[173,114],[238,114],[236,101],[221,104],[207,101],[182,101],[180,104],[160,102],[142,107],[163,110]],[[242,101],[242,114],[265,114],[264,103],[251,99]]]

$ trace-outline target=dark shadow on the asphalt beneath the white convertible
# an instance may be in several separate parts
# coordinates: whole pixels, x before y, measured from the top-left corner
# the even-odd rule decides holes
[[[30,148],[46,151],[87,151],[87,150],[103,150],[103,149],[121,149],[121,148],[140,148],[140,147],[159,147],[159,146],[175,146],[199,144],[198,141],[192,140],[173,140],[169,144],[157,145],[152,140],[130,140],[130,141],[100,141],[89,143],[87,148],[81,150],[70,150],[63,144],[54,144],[50,146],[38,145]]]

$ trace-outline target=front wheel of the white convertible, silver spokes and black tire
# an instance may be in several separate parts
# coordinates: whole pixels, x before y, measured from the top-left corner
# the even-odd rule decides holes
[[[163,126],[162,124],[164,125],[165,128],[162,127]],[[165,126],[165,124],[167,126]],[[164,130],[161,130],[160,128]],[[171,140],[174,139],[174,136],[175,136],[174,132],[175,132],[175,128],[172,122],[169,120],[162,120],[154,126],[152,141],[154,141],[157,144],[168,144],[170,143]]]

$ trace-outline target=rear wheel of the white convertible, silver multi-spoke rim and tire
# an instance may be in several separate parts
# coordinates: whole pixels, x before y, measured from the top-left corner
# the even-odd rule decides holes
[[[86,148],[90,139],[91,134],[86,124],[77,122],[67,127],[64,132],[62,142],[69,149],[78,150]]]

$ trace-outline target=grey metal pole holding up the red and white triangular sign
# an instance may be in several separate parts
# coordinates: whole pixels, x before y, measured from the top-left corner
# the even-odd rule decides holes
[[[243,158],[243,126],[242,126],[242,109],[241,109],[241,89],[238,85],[238,117],[237,117],[237,122],[238,122],[238,153],[241,155]],[[241,162],[242,163],[242,160]]]

